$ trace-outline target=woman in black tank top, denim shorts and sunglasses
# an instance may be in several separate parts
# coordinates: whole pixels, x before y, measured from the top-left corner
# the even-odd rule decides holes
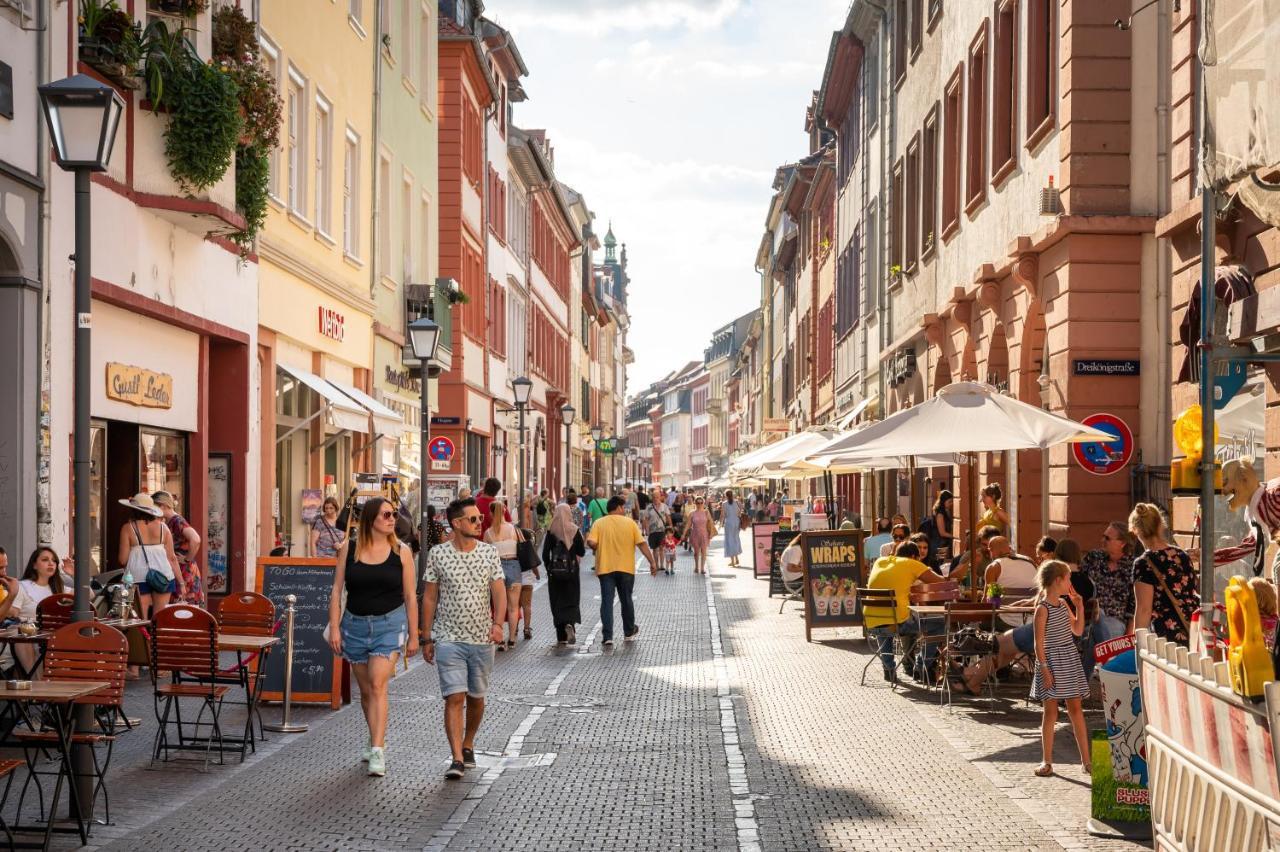
[[[365,503],[356,541],[342,544],[335,565],[325,633],[333,652],[351,663],[360,684],[360,709],[369,725],[360,759],[369,764],[370,775],[381,777],[387,774],[387,683],[401,651],[416,654],[419,643],[413,551],[396,537],[396,507],[389,500]]]

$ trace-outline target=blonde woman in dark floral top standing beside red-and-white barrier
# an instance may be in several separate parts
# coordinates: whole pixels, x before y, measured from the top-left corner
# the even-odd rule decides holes
[[[1187,645],[1199,609],[1198,574],[1187,551],[1169,544],[1167,530],[1165,513],[1152,503],[1139,503],[1129,514],[1129,531],[1144,548],[1133,560],[1133,627]]]

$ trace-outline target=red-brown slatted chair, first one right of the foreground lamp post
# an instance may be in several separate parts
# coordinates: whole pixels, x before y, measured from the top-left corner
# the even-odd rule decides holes
[[[160,672],[173,672],[173,683],[160,683]],[[160,752],[169,760],[169,750],[205,750],[205,769],[214,743],[218,743],[218,762],[223,762],[223,728],[219,720],[223,698],[229,686],[215,682],[218,674],[218,620],[207,610],[189,604],[173,604],[159,610],[151,619],[151,682],[155,687],[155,713],[160,729],[156,730],[154,764]],[[192,679],[179,682],[180,677]],[[187,736],[182,723],[182,698],[200,698],[200,714],[192,723],[193,733]],[[163,706],[161,706],[163,705]],[[205,710],[210,722],[201,723]],[[174,714],[178,742],[169,739],[169,714]],[[207,727],[207,737],[200,737],[201,727]]]

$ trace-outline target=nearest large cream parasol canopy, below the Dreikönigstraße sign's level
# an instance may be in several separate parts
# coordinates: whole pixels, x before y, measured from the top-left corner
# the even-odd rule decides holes
[[[991,385],[959,381],[925,403],[832,441],[820,458],[856,462],[899,455],[946,457],[1114,440],[1114,435],[1100,429],[1005,397]]]

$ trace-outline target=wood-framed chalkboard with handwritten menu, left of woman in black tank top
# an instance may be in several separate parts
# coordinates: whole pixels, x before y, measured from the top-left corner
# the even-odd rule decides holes
[[[284,596],[297,596],[293,604],[293,701],[328,704],[337,709],[342,704],[343,667],[324,638],[333,572],[333,559],[260,556],[257,560],[257,591],[275,604],[276,618],[284,619]],[[283,626],[280,638],[284,640]],[[282,642],[266,663],[264,701],[280,701],[284,696],[284,655]]]

